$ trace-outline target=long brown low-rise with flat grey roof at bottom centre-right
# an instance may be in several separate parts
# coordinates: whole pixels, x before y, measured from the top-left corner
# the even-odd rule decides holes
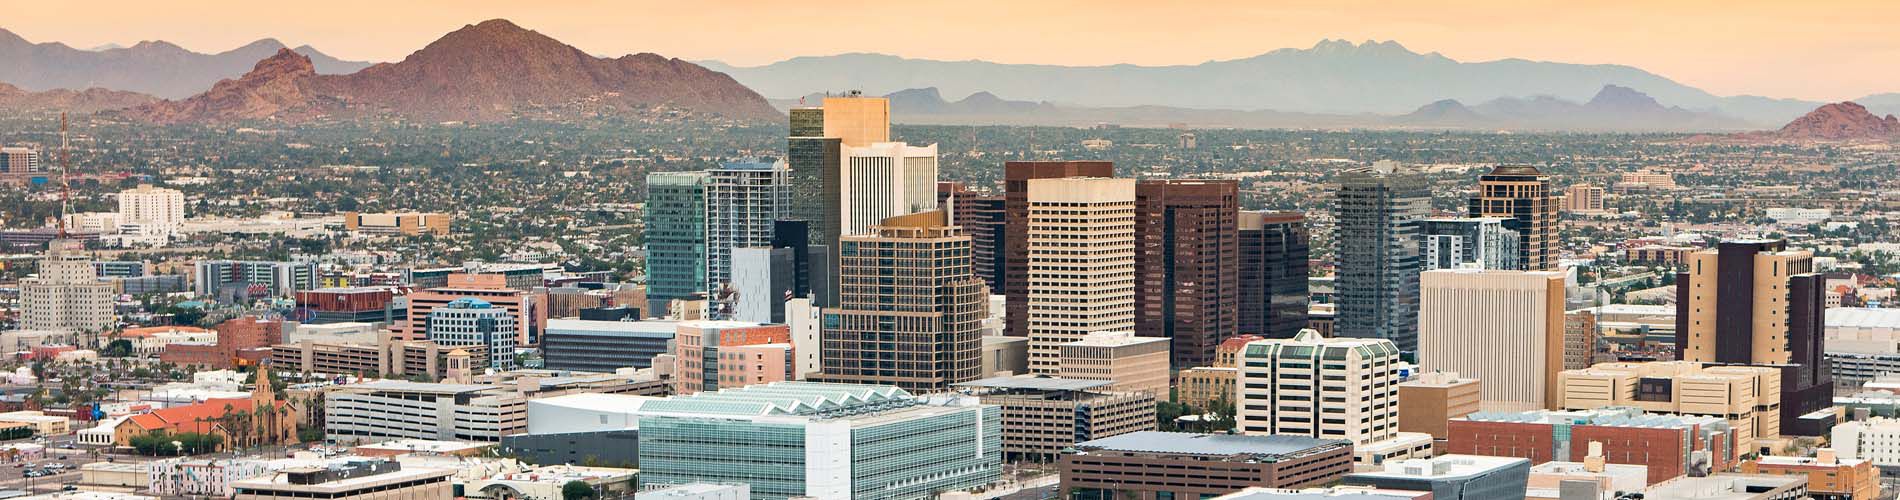
[[[1064,498],[1206,498],[1248,487],[1296,489],[1340,481],[1353,471],[1353,443],[1134,432],[1077,443],[1062,452],[1058,464]]]

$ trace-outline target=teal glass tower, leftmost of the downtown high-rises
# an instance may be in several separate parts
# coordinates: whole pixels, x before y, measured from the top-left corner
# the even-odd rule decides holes
[[[707,175],[646,175],[646,300],[663,316],[674,298],[707,291]]]

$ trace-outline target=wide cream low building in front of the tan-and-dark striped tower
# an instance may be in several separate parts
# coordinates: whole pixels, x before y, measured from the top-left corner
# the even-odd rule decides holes
[[[1636,407],[1647,413],[1720,416],[1735,428],[1737,449],[1780,435],[1780,369],[1702,367],[1693,361],[1598,363],[1564,371],[1562,409]]]

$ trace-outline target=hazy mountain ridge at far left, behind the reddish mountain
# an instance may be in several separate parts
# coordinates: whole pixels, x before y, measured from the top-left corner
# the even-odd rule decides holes
[[[0,70],[0,82],[28,91],[103,87],[180,99],[205,91],[222,78],[243,74],[283,48],[283,42],[264,38],[220,53],[198,53],[171,42],[76,49],[59,42],[27,42],[0,29],[0,68],[6,68]],[[308,55],[321,74],[346,74],[369,67],[329,57],[310,46],[294,51]]]

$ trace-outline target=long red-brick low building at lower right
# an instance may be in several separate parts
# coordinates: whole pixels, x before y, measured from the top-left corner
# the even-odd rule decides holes
[[[1583,462],[1604,443],[1604,462],[1649,466],[1649,485],[1689,471],[1729,470],[1740,451],[1716,416],[1644,414],[1632,409],[1588,413],[1478,413],[1446,422],[1446,452],[1516,456],[1533,464]]]

